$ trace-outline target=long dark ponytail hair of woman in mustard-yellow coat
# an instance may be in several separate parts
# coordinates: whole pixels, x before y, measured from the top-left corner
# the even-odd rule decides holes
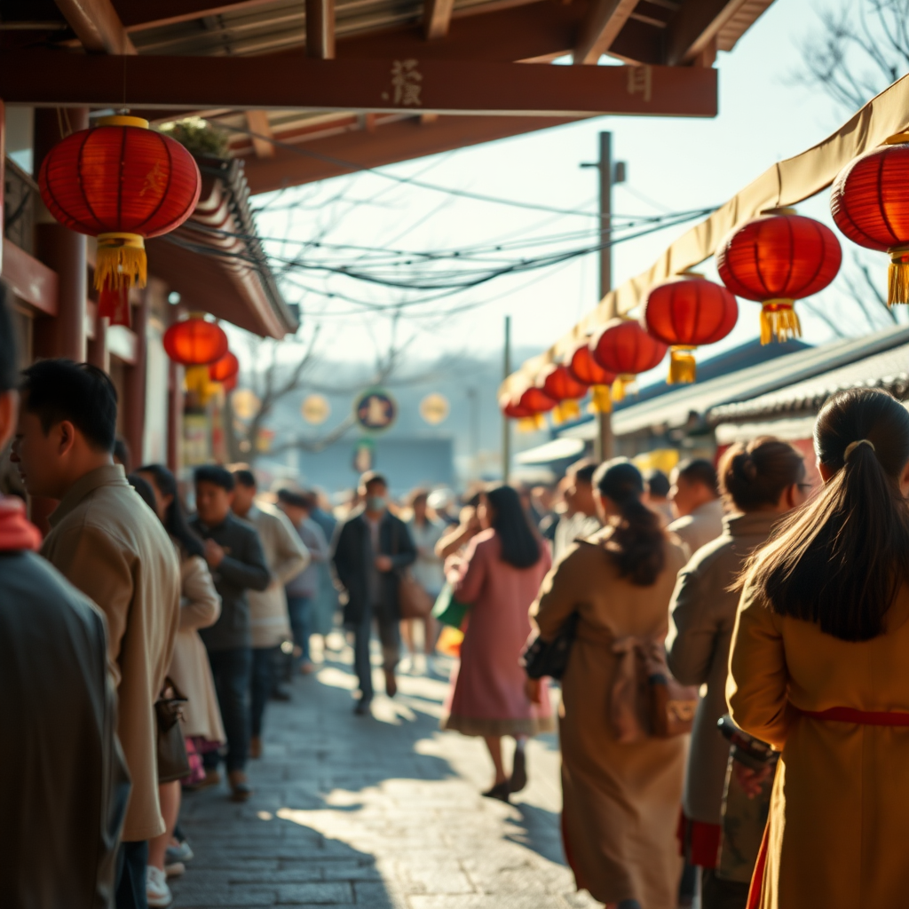
[[[909,507],[899,477],[909,463],[909,413],[880,389],[831,397],[814,451],[833,476],[748,567],[774,612],[819,624],[844,641],[884,632],[909,579]]]

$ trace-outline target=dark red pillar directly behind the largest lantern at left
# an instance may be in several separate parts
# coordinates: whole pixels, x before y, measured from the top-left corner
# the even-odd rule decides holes
[[[64,136],[88,127],[87,107],[35,108],[35,174]],[[44,206],[41,206],[44,209]],[[85,362],[85,298],[88,292],[85,235],[59,225],[46,210],[35,225],[36,258],[60,278],[57,315],[35,319],[35,356],[65,356]]]

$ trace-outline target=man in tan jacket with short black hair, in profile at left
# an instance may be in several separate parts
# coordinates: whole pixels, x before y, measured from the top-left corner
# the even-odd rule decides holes
[[[107,620],[117,734],[133,791],[117,856],[117,909],[145,906],[158,804],[155,700],[180,614],[174,546],[112,457],[116,392],[94,366],[44,360],[25,370],[13,461],[31,495],[57,499],[41,553]]]

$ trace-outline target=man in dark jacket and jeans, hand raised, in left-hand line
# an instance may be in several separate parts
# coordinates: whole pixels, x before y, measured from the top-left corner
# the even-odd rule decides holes
[[[208,651],[215,690],[227,735],[227,782],[235,802],[252,794],[246,782],[249,753],[249,688],[253,671],[253,637],[247,590],[262,591],[271,581],[265,554],[252,524],[231,513],[234,474],[217,464],[195,470],[196,515],[190,525],[205,542],[205,561],[221,594],[221,616],[199,634]],[[219,755],[204,755],[205,784],[221,782]]]

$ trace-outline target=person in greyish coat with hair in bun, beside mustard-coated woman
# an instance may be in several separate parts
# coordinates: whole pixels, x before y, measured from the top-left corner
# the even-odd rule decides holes
[[[734,445],[719,468],[731,513],[723,534],[698,549],[679,573],[672,603],[669,668],[682,684],[706,684],[694,717],[683,810],[688,859],[702,869],[702,909],[742,909],[748,884],[715,874],[729,744],[717,729],[726,712],[729,646],[738,609],[736,581],[745,560],[763,545],[781,515],[810,490],[804,461],[792,445],[769,436]]]

